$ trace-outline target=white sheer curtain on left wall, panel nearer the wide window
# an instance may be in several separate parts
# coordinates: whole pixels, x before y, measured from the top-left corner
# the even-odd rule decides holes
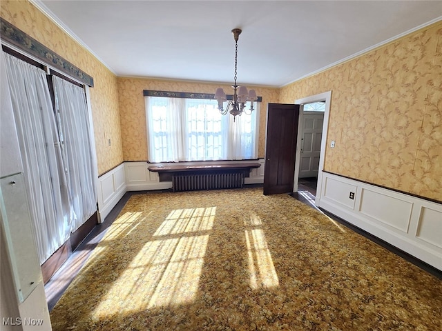
[[[59,117],[61,151],[76,216],[71,227],[74,232],[97,210],[95,179],[98,176],[93,139],[90,137],[84,89],[57,76],[52,76],[52,83]]]

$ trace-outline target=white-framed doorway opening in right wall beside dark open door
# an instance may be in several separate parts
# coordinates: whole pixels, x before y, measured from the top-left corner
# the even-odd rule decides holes
[[[295,101],[300,105],[294,192],[319,205],[332,91]]]

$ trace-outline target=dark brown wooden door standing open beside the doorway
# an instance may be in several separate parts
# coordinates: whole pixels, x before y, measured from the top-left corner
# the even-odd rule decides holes
[[[264,194],[293,192],[299,105],[269,103]]]

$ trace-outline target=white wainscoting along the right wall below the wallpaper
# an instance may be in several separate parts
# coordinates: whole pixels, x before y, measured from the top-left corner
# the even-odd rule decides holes
[[[320,208],[442,270],[441,203],[328,172],[319,175],[325,183]],[[355,197],[348,201],[350,192]]]

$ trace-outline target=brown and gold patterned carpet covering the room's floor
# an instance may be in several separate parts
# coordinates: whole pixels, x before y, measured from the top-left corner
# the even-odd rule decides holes
[[[287,194],[135,194],[50,313],[66,330],[442,330],[442,281]]]

